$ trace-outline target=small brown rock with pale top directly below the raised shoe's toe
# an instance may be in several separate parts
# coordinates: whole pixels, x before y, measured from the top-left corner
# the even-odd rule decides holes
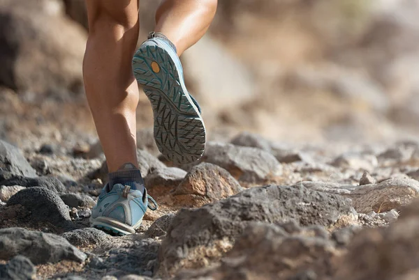
[[[177,167],[154,169],[144,178],[144,183],[151,196],[165,196],[175,189],[185,176],[186,171]]]

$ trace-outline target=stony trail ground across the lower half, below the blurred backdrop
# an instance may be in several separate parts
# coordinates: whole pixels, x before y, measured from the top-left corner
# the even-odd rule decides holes
[[[419,142],[285,147],[242,132],[190,166],[154,147],[138,162],[160,208],[112,236],[89,227],[97,145],[74,156],[1,141],[0,278],[419,277]]]

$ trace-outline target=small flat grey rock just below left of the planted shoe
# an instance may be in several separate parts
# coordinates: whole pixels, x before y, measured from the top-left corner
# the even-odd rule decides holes
[[[77,247],[100,246],[102,242],[110,241],[111,236],[96,228],[80,228],[67,231],[60,235]]]

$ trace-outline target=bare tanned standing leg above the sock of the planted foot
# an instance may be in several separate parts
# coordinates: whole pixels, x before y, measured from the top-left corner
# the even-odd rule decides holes
[[[136,155],[138,84],[131,59],[138,40],[138,0],[88,0],[84,86],[109,172]]]

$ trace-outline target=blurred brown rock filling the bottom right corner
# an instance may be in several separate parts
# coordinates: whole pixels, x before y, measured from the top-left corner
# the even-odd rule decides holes
[[[337,263],[338,272],[334,279],[390,280],[417,270],[418,205],[419,201],[416,200],[404,208],[399,220],[388,228],[364,229],[356,235],[348,248],[348,254]]]

